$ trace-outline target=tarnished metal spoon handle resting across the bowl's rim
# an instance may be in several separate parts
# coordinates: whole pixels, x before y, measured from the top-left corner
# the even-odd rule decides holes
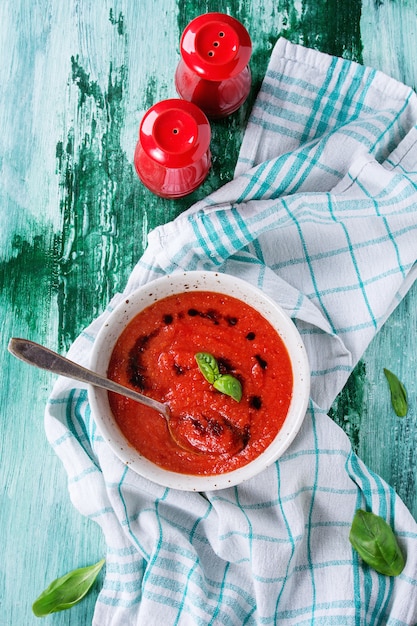
[[[94,387],[102,387],[108,391],[114,391],[122,396],[126,396],[132,400],[146,404],[146,406],[150,406],[151,408],[156,409],[159,413],[162,413],[164,417],[168,417],[168,407],[165,404],[158,402],[157,400],[153,400],[153,398],[148,398],[138,391],[133,391],[132,389],[123,387],[123,385],[119,385],[119,383],[116,383],[113,380],[105,378],[100,374],[96,374],[82,365],[78,365],[78,363],[74,363],[74,361],[70,361],[60,354],[57,354],[56,352],[49,350],[49,348],[45,348],[45,346],[41,346],[34,341],[13,337],[9,341],[8,349],[9,352],[11,352],[15,357],[29,363],[30,365],[34,365],[35,367],[39,367],[43,370],[48,370],[54,374],[59,374],[60,376],[89,383]]]

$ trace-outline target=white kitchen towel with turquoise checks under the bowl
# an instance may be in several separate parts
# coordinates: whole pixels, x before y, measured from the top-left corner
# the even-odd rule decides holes
[[[96,626],[417,622],[417,525],[326,414],[416,277],[416,123],[408,87],[280,39],[235,179],[150,234],[125,294],[176,270],[259,286],[303,336],[311,402],[277,463],[203,495],[132,473],[100,436],[86,390],[57,381],[47,436],[74,505],[108,546]],[[121,297],[71,358],[88,364]],[[407,554],[400,576],[377,574],[352,550],[357,508],[395,529]]]

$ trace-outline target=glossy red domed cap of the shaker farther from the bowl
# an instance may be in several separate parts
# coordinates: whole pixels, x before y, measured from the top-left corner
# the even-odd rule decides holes
[[[242,72],[252,53],[246,28],[224,13],[206,13],[192,20],[182,34],[180,48],[190,70],[214,81]]]

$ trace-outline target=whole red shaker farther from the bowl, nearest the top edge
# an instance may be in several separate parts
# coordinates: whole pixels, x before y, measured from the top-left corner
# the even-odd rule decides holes
[[[180,51],[175,86],[182,98],[214,119],[244,103],[252,82],[252,43],[241,22],[224,13],[200,15],[184,30]]]

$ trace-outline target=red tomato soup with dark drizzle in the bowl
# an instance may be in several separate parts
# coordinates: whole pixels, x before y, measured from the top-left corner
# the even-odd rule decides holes
[[[206,380],[199,352],[241,383],[240,401]],[[287,350],[271,324],[240,300],[209,291],[169,296],[140,312],[119,337],[108,376],[170,408],[171,433],[155,410],[109,393],[132,446],[163,468],[200,475],[235,470],[262,453],[293,389]]]

